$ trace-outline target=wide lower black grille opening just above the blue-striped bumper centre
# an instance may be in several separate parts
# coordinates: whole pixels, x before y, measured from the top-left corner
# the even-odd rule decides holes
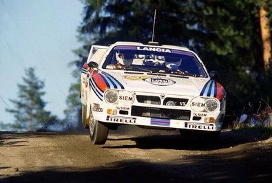
[[[180,109],[162,109],[156,107],[132,106],[132,116],[190,120],[191,111]]]

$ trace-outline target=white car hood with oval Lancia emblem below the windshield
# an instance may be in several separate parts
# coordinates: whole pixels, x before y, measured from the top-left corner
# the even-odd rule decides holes
[[[194,78],[166,74],[125,74],[112,73],[123,88],[135,92],[162,93],[173,95],[199,96],[209,78]]]

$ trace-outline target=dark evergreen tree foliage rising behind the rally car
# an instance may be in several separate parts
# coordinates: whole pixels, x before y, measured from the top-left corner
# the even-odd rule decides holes
[[[82,0],[83,1],[83,0]],[[76,50],[77,71],[86,61],[90,45],[115,41],[154,41],[185,45],[196,51],[209,71],[220,72],[227,90],[227,113],[240,115],[249,102],[272,98],[271,71],[264,72],[260,36],[260,6],[272,18],[269,0],[104,0],[83,1],[83,22]],[[272,27],[272,26],[271,26]],[[72,96],[71,96],[72,97]]]

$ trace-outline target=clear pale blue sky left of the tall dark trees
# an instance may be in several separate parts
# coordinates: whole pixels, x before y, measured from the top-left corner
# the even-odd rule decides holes
[[[14,122],[6,108],[14,109],[9,99],[17,99],[29,67],[45,82],[45,109],[64,118],[83,7],[79,0],[0,0],[0,122]]]

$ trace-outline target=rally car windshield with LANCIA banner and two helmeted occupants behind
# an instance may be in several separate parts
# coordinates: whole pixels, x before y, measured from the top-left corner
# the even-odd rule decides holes
[[[109,53],[102,67],[207,77],[202,64],[191,52],[160,47],[116,46]]]

